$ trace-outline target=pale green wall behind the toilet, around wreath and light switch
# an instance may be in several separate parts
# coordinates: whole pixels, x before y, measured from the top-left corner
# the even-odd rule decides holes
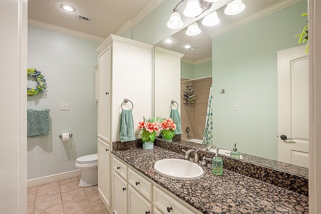
[[[100,44],[28,26],[28,67],[41,71],[48,88],[28,96],[27,108],[50,109],[49,135],[28,138],[28,179],[75,170],[76,158],[97,153],[94,65]],[[70,111],[59,111],[59,103],[70,103]],[[73,137],[62,142],[62,133]]]

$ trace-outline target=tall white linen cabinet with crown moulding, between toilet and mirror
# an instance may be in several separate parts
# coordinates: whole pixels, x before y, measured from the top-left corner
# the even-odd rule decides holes
[[[110,35],[98,54],[98,191],[112,213],[112,142],[119,141],[121,107],[133,109],[134,127],[151,117],[152,45]],[[130,102],[123,103],[124,98]]]

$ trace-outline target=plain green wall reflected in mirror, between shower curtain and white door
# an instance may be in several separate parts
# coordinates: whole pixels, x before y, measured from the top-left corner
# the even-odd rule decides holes
[[[302,1],[213,38],[213,144],[277,159],[277,51],[298,46],[306,11]]]

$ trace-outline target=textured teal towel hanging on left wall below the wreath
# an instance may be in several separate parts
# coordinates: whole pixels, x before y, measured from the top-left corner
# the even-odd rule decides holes
[[[27,137],[49,135],[49,109],[27,110]]]

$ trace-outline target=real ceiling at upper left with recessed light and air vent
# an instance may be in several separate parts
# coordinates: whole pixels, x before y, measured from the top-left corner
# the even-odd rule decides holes
[[[29,0],[28,18],[107,38],[132,20],[151,0]],[[60,8],[68,4],[76,12]],[[77,14],[94,19],[89,23],[77,19]]]

